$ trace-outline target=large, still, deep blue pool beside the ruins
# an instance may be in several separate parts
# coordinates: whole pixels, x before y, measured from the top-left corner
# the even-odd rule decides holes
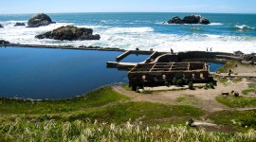
[[[103,85],[127,83],[106,68],[118,51],[0,47],[0,97],[72,98]]]

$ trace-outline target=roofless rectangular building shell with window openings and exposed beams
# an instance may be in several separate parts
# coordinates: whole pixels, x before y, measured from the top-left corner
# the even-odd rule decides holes
[[[137,87],[173,84],[173,80],[208,82],[210,70],[206,62],[138,63],[128,73],[129,86]]]

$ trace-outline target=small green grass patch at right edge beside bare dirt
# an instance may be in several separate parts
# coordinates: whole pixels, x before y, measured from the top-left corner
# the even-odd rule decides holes
[[[216,99],[231,108],[256,107],[256,98],[219,96]]]

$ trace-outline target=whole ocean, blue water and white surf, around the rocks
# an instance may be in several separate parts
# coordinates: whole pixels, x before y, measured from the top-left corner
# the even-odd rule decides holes
[[[47,27],[13,27],[33,14],[0,15],[0,39],[16,44],[94,45],[122,49],[153,48],[157,51],[202,50],[255,52],[256,14],[195,13],[210,19],[210,25],[168,25],[174,16],[191,13],[49,13],[57,24]],[[38,40],[34,36],[56,27],[91,27],[100,41]]]

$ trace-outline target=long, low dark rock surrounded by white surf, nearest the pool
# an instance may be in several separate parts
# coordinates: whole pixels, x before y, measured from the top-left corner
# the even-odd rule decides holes
[[[38,39],[54,39],[54,40],[100,40],[101,36],[99,34],[93,35],[92,28],[85,27],[58,27],[52,31],[35,36]]]

